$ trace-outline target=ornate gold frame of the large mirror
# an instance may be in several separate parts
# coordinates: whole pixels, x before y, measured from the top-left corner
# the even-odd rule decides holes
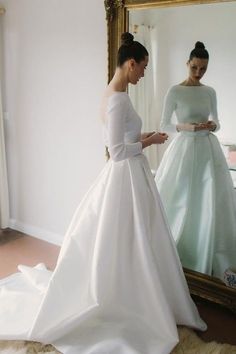
[[[211,4],[236,0],[105,0],[108,32],[108,81],[116,68],[116,54],[121,33],[128,30],[128,12],[167,6]],[[208,275],[184,269],[191,294],[218,303],[236,311],[236,290]]]

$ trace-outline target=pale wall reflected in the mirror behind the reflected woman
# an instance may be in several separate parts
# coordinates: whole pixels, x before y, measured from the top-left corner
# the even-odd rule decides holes
[[[221,140],[236,143],[236,2],[178,6],[132,11],[132,23],[157,28],[157,121],[164,95],[188,75],[186,62],[196,41],[205,43],[210,54],[203,83],[215,88],[218,97]]]

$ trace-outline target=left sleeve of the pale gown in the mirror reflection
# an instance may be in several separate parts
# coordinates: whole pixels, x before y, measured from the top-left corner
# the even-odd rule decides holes
[[[162,111],[161,124],[160,124],[161,131],[176,133],[176,124],[173,124],[171,122],[171,118],[175,109],[176,109],[176,101],[174,99],[173,90],[170,89],[167,92],[164,99],[164,107]]]

